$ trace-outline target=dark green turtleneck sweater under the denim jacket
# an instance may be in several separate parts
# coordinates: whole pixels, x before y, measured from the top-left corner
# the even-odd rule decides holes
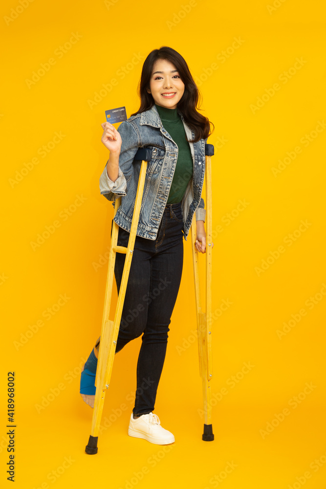
[[[167,130],[178,147],[178,157],[167,200],[167,204],[174,204],[181,202],[188,182],[193,176],[193,157],[191,155],[189,143],[186,139],[184,125],[181,117],[177,113],[177,109],[167,109],[166,107],[157,104],[155,104],[155,106],[164,129]]]

